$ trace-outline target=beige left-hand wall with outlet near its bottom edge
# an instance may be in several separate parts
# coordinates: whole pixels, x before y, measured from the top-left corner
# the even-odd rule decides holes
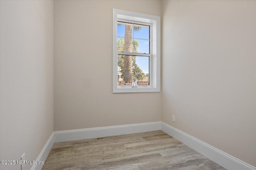
[[[0,160],[23,153],[36,160],[53,132],[54,3],[1,0],[0,6]]]

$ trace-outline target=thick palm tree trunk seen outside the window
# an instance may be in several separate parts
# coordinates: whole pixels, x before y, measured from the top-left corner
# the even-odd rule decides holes
[[[124,52],[132,52],[132,25],[125,25]],[[132,81],[132,56],[124,55],[124,81]]]

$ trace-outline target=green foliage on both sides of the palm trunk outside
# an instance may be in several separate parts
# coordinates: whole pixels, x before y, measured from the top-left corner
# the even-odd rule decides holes
[[[138,41],[133,41],[132,46],[135,53],[138,53]],[[117,42],[117,51],[124,51],[124,39],[120,38]],[[121,78],[124,77],[124,55],[118,55],[118,66],[121,68]],[[132,76],[137,80],[142,80],[145,78],[145,73],[140,69],[140,67],[136,64],[136,56],[132,56]]]

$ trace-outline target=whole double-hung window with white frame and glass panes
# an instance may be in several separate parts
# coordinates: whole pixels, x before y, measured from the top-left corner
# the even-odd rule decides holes
[[[160,17],[113,9],[113,93],[160,92]]]

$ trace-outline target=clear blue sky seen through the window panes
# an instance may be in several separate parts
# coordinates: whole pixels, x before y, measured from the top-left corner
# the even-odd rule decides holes
[[[124,37],[125,33],[125,25],[121,24],[117,27],[117,41],[120,37]],[[134,40],[138,41],[138,53],[149,53],[149,40],[142,40],[142,39],[149,39],[149,27],[141,27],[141,29],[137,32],[134,31],[132,33]],[[149,73],[149,57],[136,57],[136,64],[140,67],[140,69],[146,74]]]

